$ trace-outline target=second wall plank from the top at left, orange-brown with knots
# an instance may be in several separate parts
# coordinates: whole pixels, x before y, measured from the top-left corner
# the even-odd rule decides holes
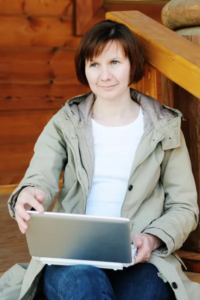
[[[66,17],[0,16],[0,46],[77,47]]]

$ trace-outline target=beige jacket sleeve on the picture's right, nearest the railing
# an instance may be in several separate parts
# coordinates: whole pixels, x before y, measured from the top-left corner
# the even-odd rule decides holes
[[[166,246],[158,251],[163,256],[179,249],[198,223],[196,187],[182,132],[180,142],[179,147],[171,150],[163,172],[163,214],[143,231],[156,235],[165,243]]]

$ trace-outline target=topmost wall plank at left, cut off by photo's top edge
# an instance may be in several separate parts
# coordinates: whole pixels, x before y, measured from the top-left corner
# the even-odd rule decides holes
[[[72,17],[72,0],[0,0],[0,15],[64,15]]]

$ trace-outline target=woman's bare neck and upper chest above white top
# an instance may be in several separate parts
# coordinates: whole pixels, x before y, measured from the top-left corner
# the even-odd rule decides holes
[[[117,99],[96,97],[92,118],[104,126],[124,126],[132,123],[139,114],[139,104],[128,95]]]

